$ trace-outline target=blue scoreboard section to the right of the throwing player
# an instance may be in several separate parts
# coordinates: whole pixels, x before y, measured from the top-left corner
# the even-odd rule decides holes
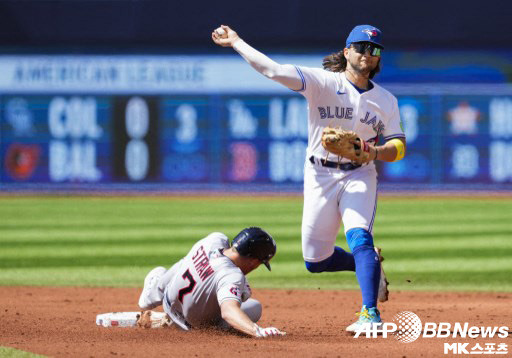
[[[381,181],[512,182],[512,96],[397,97],[407,154],[382,166]]]

